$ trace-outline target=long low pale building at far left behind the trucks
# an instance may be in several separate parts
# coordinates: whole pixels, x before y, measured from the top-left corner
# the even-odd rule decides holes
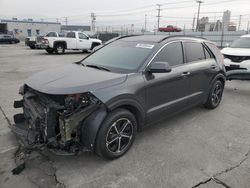
[[[33,19],[18,20],[13,18],[12,20],[1,20],[0,26],[7,28],[9,34],[13,34],[20,40],[24,40],[29,36],[45,35],[49,31],[61,31],[61,23],[33,21]]]

